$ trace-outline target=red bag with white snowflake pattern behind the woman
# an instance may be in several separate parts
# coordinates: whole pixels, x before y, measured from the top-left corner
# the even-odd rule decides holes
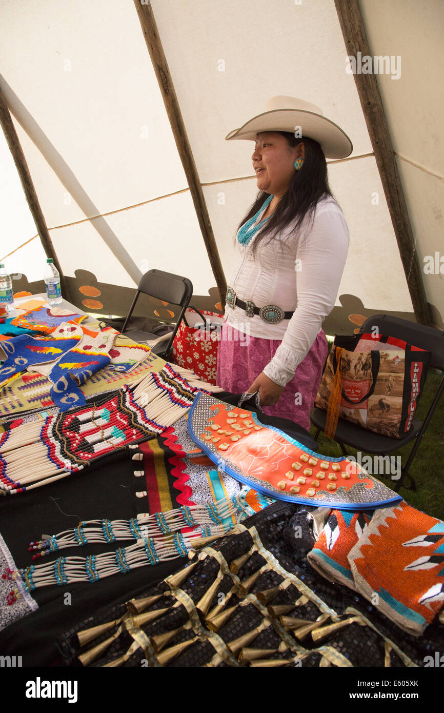
[[[205,317],[205,323],[201,315]],[[172,363],[192,369],[202,381],[216,384],[222,322],[222,314],[207,310],[198,313],[194,307],[187,307],[185,319],[182,319],[172,342]]]

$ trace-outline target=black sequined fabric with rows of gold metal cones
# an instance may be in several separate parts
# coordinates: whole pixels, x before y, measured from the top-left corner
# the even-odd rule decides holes
[[[238,533],[207,545],[200,552],[202,559],[196,555],[185,570],[138,595],[161,595],[142,616],[166,610],[146,623],[137,625],[140,618],[130,615],[125,605],[79,623],[59,642],[66,665],[82,665],[79,656],[88,657],[109,640],[83,664],[423,666],[425,656],[443,648],[444,627],[438,617],[423,637],[413,637],[363,597],[313,570],[305,556],[313,539],[306,518],[310,509],[274,503],[245,520],[246,529],[241,525]],[[294,537],[296,528],[301,537]],[[79,645],[78,632],[120,617],[120,624]],[[324,620],[314,625],[319,617]],[[119,627],[120,633],[110,640]],[[167,637],[159,638],[162,635]]]

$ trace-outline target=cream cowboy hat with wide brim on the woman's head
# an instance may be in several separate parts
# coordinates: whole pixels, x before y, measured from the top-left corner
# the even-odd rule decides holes
[[[267,101],[266,111],[247,121],[241,128],[225,137],[256,140],[262,131],[288,131],[301,127],[302,138],[307,136],[321,144],[326,158],[346,158],[353,150],[351,140],[334,121],[327,119],[319,106],[294,96],[274,96]]]

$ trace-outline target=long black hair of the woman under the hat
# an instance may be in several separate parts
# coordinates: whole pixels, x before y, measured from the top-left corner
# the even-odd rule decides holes
[[[257,233],[252,247],[253,254],[260,242],[264,240],[267,240],[267,243],[270,242],[291,222],[295,221],[294,230],[297,230],[305,217],[312,220],[316,204],[321,198],[326,195],[331,195],[333,198],[327,178],[324,152],[319,143],[312,138],[296,138],[294,134],[286,131],[277,131],[276,133],[282,134],[286,138],[290,148],[304,142],[305,158],[302,168],[299,171],[294,171],[289,188],[279,200],[271,217]],[[242,218],[237,230],[258,212],[268,197],[269,193],[259,190],[256,200],[249,208],[247,215]],[[279,244],[282,245],[281,240],[279,240]]]

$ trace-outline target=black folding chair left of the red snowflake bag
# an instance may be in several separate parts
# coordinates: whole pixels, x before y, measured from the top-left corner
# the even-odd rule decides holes
[[[156,330],[154,328],[153,332],[144,332],[140,330],[126,331],[140,292],[149,294],[150,297],[162,299],[164,302],[177,304],[177,306],[181,307],[180,315],[175,325],[159,325],[159,327],[163,327],[167,330],[167,334],[165,334],[165,339],[162,339],[162,341],[154,344],[152,347],[154,354],[162,356],[162,359],[167,359],[170,356],[172,342],[175,338],[177,329],[180,327],[180,322],[182,322],[184,317],[185,309],[187,309],[188,304],[190,304],[190,299],[192,297],[192,283],[187,277],[172,275],[170,272],[163,272],[163,270],[148,270],[148,272],[145,272],[142,279],[140,279],[137,292],[135,293],[135,297],[133,299],[133,304],[131,304],[130,310],[125,318],[121,332],[125,335],[125,337],[133,339],[134,342],[150,342],[159,338],[159,329]]]

